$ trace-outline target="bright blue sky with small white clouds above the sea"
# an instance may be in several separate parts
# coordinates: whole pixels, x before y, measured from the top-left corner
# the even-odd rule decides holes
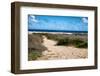
[[[88,31],[87,17],[28,15],[28,30]]]

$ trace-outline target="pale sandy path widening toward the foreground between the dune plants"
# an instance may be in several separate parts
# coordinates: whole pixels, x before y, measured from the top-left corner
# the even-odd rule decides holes
[[[52,59],[79,59],[87,58],[87,49],[75,48],[73,46],[55,46],[56,41],[49,40],[45,36],[43,45],[48,48],[38,60],[52,60]]]

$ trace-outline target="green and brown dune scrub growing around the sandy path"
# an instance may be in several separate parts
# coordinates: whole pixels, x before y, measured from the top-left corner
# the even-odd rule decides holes
[[[48,50],[43,45],[43,36],[49,40],[56,41],[54,46],[73,46],[75,48],[87,48],[87,34],[59,34],[59,33],[32,33],[28,34],[28,60],[37,60],[42,52]]]

